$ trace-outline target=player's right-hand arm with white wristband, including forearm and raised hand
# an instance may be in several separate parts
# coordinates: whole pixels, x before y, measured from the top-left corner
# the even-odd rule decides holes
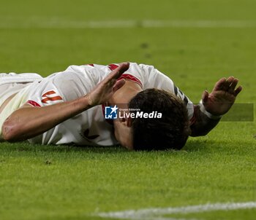
[[[237,84],[238,79],[230,76],[219,79],[211,93],[203,92],[201,103],[195,106],[195,121],[190,126],[192,136],[206,135],[218,124],[242,90],[241,86],[236,88]]]

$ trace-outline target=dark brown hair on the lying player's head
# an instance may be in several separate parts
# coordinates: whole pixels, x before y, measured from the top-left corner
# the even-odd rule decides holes
[[[189,119],[181,98],[165,90],[148,89],[135,95],[128,106],[144,113],[162,113],[162,118],[132,119],[133,149],[181,149],[186,144]]]

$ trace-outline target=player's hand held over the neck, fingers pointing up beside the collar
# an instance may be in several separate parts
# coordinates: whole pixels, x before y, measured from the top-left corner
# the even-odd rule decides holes
[[[106,103],[111,96],[120,89],[125,80],[118,78],[129,68],[129,63],[120,63],[118,68],[113,70],[105,79],[102,80],[92,91],[87,94],[89,105],[97,106]]]

